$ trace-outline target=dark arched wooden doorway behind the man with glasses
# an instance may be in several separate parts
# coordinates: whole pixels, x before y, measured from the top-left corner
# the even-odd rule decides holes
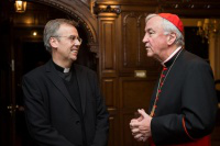
[[[69,2],[69,1],[68,1]],[[1,21],[1,115],[0,119],[0,145],[6,146],[34,146],[31,139],[24,120],[23,100],[21,81],[22,76],[31,69],[46,63],[50,54],[43,46],[43,29],[51,19],[65,18],[78,23],[77,30],[84,40],[80,46],[77,64],[88,66],[97,70],[97,35],[94,18],[81,13],[74,7],[72,1],[29,1],[25,13],[15,13],[13,3],[3,0],[8,18]],[[7,4],[6,4],[7,3]],[[80,3],[78,3],[80,4]],[[85,8],[84,8],[85,7]],[[80,9],[88,9],[86,4]],[[2,10],[2,9],[1,9]],[[2,13],[4,13],[2,12]],[[80,15],[80,16],[79,16]],[[85,16],[87,15],[87,16]],[[33,35],[33,33],[37,35]],[[2,34],[1,33],[1,34]]]

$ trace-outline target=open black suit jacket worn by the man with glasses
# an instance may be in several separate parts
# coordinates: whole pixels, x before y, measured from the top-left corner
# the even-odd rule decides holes
[[[88,146],[106,146],[109,114],[96,72],[73,65],[79,86]],[[50,60],[23,77],[25,116],[31,135],[41,146],[82,145],[81,121],[75,103]]]

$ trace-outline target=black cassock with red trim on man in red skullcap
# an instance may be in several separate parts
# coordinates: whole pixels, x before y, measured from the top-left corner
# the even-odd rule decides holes
[[[152,96],[150,111],[156,98]],[[156,145],[196,142],[215,127],[217,97],[210,66],[182,50],[162,87],[151,122]]]

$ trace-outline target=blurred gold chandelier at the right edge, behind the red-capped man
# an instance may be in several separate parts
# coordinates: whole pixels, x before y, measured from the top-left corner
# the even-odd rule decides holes
[[[202,43],[205,42],[205,38],[207,38],[209,43],[210,34],[218,34],[219,32],[219,23],[217,20],[205,19],[204,22],[198,21],[197,26],[197,35],[202,37]]]

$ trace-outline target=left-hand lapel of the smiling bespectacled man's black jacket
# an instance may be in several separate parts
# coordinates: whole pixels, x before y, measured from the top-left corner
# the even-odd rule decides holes
[[[46,75],[51,79],[51,81],[57,87],[57,89],[64,94],[64,97],[68,100],[70,105],[77,111],[76,105],[74,104],[74,101],[69,96],[66,86],[64,85],[64,81],[56,74],[56,69],[52,63],[52,59],[46,64]]]

